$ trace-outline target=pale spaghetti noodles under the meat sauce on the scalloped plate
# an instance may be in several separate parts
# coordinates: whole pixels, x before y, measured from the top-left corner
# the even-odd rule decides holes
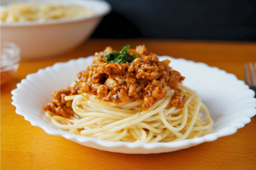
[[[77,82],[79,80],[70,88],[77,87]],[[68,108],[72,109],[73,114],[58,115],[54,109],[45,107],[46,116],[60,129],[107,141],[172,142],[210,132],[213,120],[194,90],[178,82],[175,88],[165,86],[162,91],[166,91],[166,95],[154,100],[146,109],[143,107],[145,100],[137,98],[131,98],[126,103],[115,103],[99,99],[98,94],[90,92],[65,94],[62,100],[69,103]],[[182,94],[182,98],[177,95],[177,91]],[[182,107],[175,105],[175,98],[185,101]]]

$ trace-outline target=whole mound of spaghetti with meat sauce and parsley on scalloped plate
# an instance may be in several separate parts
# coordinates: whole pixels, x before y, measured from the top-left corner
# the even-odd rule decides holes
[[[136,143],[209,133],[213,120],[206,106],[181,83],[185,77],[168,66],[170,61],[160,62],[144,45],[127,49],[95,53],[78,80],[53,93],[45,106],[53,125],[89,138]]]

